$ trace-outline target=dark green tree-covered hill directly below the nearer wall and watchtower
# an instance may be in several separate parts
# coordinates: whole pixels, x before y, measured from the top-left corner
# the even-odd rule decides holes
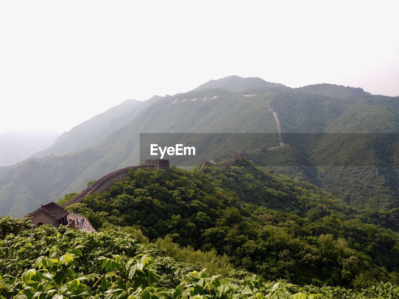
[[[362,222],[313,185],[247,161],[205,175],[140,170],[67,209],[96,228],[134,227],[150,241],[216,250],[267,280],[356,289],[399,281],[397,233]]]

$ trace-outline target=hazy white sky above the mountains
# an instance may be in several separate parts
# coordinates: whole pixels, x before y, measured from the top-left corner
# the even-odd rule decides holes
[[[229,75],[399,95],[397,1],[1,1],[0,132]]]

